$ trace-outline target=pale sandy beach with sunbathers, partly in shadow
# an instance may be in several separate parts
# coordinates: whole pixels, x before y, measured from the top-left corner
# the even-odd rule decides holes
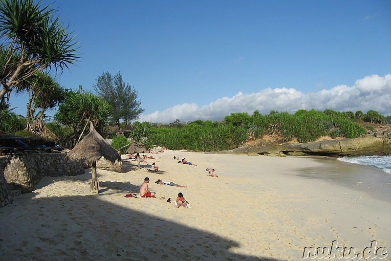
[[[0,208],[0,259],[301,260],[304,247],[337,241],[357,254],[375,240],[388,250],[382,260],[391,260],[391,199],[322,176],[336,160],[169,150],[148,155],[156,159],[141,166],[155,162],[158,173],[138,170],[135,161],[123,162],[126,173],[98,170],[98,195],[89,192],[86,169],[45,177],[32,193],[14,197]],[[352,172],[352,164],[338,164],[335,173]],[[208,176],[208,167],[219,177]],[[125,197],[138,195],[147,176],[157,198]],[[188,187],[158,185],[157,179]],[[167,202],[179,192],[191,208]]]

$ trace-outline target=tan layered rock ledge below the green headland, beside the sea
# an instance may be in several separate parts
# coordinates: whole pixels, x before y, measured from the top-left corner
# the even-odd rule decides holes
[[[284,143],[269,146],[240,147],[225,153],[267,156],[323,155],[331,157],[391,154],[391,131],[375,132],[354,139],[333,139],[309,143]]]

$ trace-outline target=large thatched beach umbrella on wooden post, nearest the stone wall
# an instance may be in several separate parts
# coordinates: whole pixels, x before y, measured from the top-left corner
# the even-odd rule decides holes
[[[101,157],[104,157],[111,163],[121,160],[121,156],[118,152],[114,150],[97,131],[95,131],[94,125],[90,122],[89,133],[65,156],[65,160],[81,160],[84,158],[88,164],[91,163],[92,180],[90,188],[92,193],[98,194],[99,182],[96,179],[96,162]]]

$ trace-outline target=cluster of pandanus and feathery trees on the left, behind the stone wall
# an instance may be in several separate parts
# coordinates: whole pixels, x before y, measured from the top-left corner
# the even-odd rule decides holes
[[[41,1],[0,0],[0,131],[43,136],[48,139],[80,140],[86,121],[103,130],[136,119],[144,110],[137,91],[125,84],[118,72],[104,72],[93,86],[96,94],[66,89],[56,75],[79,58],[78,43],[68,26],[56,16],[58,10]],[[26,117],[10,108],[10,97],[28,93]],[[47,124],[45,112],[59,107]],[[61,126],[59,126],[59,124]],[[64,138],[60,138],[65,135]]]

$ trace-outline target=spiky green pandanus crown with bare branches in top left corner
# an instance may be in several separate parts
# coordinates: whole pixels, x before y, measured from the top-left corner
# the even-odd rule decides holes
[[[0,101],[38,71],[62,72],[77,59],[68,26],[40,1],[0,0]]]

